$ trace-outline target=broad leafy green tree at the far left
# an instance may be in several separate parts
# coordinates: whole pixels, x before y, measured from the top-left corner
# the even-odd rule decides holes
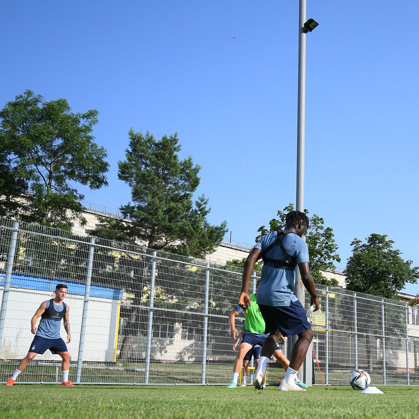
[[[65,99],[44,101],[26,90],[0,111],[0,173],[15,178],[2,188],[0,212],[21,220],[71,228],[85,222],[72,185],[106,186],[106,150],[94,142],[98,111],[73,113]],[[4,191],[6,193],[4,193]],[[28,193],[29,192],[29,193]],[[69,210],[69,211],[67,211]]]

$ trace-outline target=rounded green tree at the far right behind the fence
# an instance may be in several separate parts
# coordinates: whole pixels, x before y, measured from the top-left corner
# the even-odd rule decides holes
[[[344,270],[348,290],[394,299],[405,284],[416,284],[419,267],[401,258],[393,240],[377,233],[365,240],[355,238],[351,243],[352,256]]]

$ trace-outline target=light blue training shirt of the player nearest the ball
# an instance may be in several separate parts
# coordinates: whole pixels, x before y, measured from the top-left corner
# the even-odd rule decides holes
[[[255,248],[263,251],[276,240],[277,236],[278,233],[276,231],[263,236]],[[297,264],[310,261],[308,258],[307,244],[299,235],[288,233],[282,240],[282,246],[284,246],[285,251],[290,256],[296,258]],[[274,246],[266,253],[266,257],[271,259],[284,259],[279,245]],[[262,267],[261,278],[256,295],[258,304],[284,307],[289,306],[291,301],[298,300],[294,294],[295,271],[264,265]]]

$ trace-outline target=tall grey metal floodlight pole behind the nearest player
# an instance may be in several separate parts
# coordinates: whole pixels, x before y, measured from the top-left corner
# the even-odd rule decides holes
[[[297,101],[297,194],[295,209],[304,212],[304,148],[305,148],[305,31],[306,0],[300,0],[298,18],[298,101]],[[305,290],[298,265],[295,269],[295,296],[305,306]],[[292,347],[297,336],[292,339]],[[298,372],[304,383],[311,385],[313,380],[313,344],[310,344],[305,361]]]

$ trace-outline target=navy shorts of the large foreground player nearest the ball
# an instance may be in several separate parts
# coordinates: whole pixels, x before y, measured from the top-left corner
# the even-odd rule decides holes
[[[279,330],[283,336],[294,336],[311,328],[307,313],[300,301],[291,302],[290,306],[273,307],[259,304],[265,321],[265,332]]]

